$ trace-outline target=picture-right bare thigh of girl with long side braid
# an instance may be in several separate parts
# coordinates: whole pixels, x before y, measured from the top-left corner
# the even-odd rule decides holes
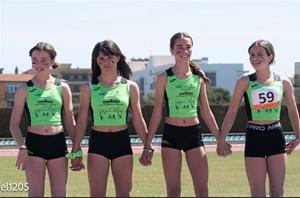
[[[208,162],[203,146],[188,150],[185,153],[193,182],[196,186],[207,186],[208,183]]]

